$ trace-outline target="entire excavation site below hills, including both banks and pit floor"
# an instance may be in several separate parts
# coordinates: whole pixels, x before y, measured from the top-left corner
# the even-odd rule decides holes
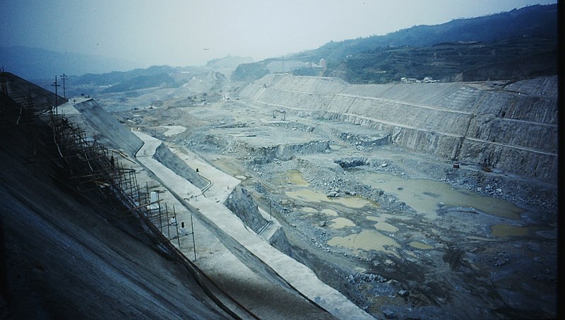
[[[557,314],[557,76],[0,80],[14,318]]]

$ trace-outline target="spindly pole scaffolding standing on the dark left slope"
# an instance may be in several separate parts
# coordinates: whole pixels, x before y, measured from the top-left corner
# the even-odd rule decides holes
[[[4,91],[5,82],[1,89]],[[37,111],[30,93],[2,93],[0,119],[1,128],[25,126],[24,132],[29,132],[33,146],[31,155],[25,157],[28,161],[52,162],[59,168],[56,178],[66,186],[84,196],[95,192],[106,201],[117,203],[122,209],[112,213],[114,218],[141,220],[143,232],[151,233],[157,244],[177,242],[180,249],[180,239],[186,236],[192,236],[195,243],[192,225],[191,232],[184,232],[184,222],[179,230],[174,207],[170,212],[166,203],[162,205],[159,194],[150,192],[148,185],[140,188],[135,169],[125,167],[114,158],[114,150],[97,141],[88,141],[85,131],[59,114],[57,107]],[[157,198],[153,199],[152,194]]]

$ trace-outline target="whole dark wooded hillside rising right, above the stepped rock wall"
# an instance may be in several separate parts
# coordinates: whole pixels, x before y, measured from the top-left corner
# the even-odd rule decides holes
[[[550,76],[557,70],[557,5],[528,6],[340,42],[277,59],[240,65],[232,80],[252,81],[273,60],[327,64],[323,71],[287,67],[299,76],[333,76],[351,83],[388,83],[425,76],[443,81]],[[513,66],[520,68],[514,69]],[[294,64],[296,65],[296,64]],[[271,71],[273,72],[273,71]],[[278,71],[280,72],[280,71]]]

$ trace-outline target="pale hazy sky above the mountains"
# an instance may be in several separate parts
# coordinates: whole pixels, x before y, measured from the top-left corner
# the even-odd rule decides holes
[[[198,66],[557,0],[0,0],[0,45]]]

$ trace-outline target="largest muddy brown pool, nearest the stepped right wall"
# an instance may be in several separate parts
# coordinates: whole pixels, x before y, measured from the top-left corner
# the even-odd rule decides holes
[[[489,215],[520,219],[521,208],[499,198],[482,196],[470,191],[453,189],[444,182],[426,179],[404,179],[390,174],[367,173],[360,179],[373,188],[383,189],[387,194],[396,194],[415,211],[428,218],[436,217],[439,203],[445,207],[472,207]]]

